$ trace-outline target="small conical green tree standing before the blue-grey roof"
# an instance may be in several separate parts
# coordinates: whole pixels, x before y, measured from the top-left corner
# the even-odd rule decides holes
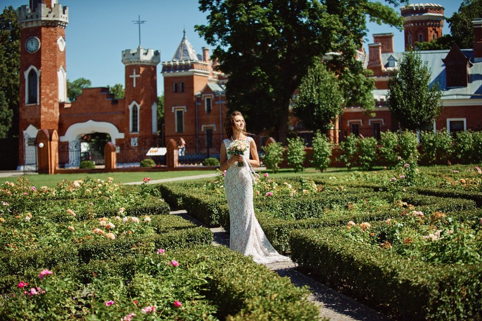
[[[430,83],[429,68],[420,55],[409,50],[388,81],[387,106],[403,129],[419,130],[434,121],[442,110],[438,83]]]

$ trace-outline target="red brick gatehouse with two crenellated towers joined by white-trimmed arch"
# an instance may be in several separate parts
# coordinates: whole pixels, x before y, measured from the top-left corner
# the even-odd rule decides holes
[[[18,8],[21,28],[19,168],[36,163],[38,130],[56,130],[59,163],[78,167],[80,138],[108,133],[119,163],[138,163],[157,146],[156,66],[159,51],[124,50],[125,97],[114,99],[107,88],[84,89],[67,99],[65,28],[68,8],[56,0],[30,0]]]

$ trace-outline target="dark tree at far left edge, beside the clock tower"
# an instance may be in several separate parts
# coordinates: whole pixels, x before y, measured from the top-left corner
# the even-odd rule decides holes
[[[18,135],[20,29],[12,6],[0,14],[0,138]]]

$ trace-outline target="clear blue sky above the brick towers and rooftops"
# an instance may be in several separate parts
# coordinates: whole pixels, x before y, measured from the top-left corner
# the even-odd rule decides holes
[[[197,53],[207,46],[204,39],[194,31],[195,25],[206,24],[206,13],[200,12],[197,0],[59,0],[69,7],[69,25],[66,29],[67,78],[70,81],[79,77],[90,79],[93,87],[123,84],[124,65],[121,53],[138,46],[138,27],[132,21],[146,21],[141,25],[143,48],[160,50],[161,61],[172,59],[183,37],[186,36]],[[383,1],[381,1],[383,2]],[[18,8],[28,0],[1,0],[1,7]],[[411,2],[415,3],[415,2]],[[418,2],[417,2],[418,3]],[[458,10],[461,0],[441,0],[434,2],[445,8],[445,16],[450,17]],[[369,23],[365,39],[365,50],[373,42],[373,33],[394,33],[395,51],[403,51],[403,32],[389,26]],[[449,33],[448,24],[444,34]],[[157,92],[164,91],[161,65],[157,66]]]

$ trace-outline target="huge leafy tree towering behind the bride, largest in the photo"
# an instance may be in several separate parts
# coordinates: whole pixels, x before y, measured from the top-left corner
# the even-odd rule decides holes
[[[397,0],[387,3],[399,5]],[[404,1],[404,3],[406,3]],[[199,0],[208,24],[196,26],[220,70],[228,74],[226,95],[231,110],[242,111],[250,129],[275,129],[284,140],[293,92],[315,59],[339,52],[331,70],[340,76],[347,102],[369,103],[370,90],[352,90],[363,66],[355,51],[366,35],[366,16],[401,28],[403,19],[387,5],[368,0]],[[353,83],[355,81],[355,84]],[[361,86],[364,88],[365,86]],[[362,97],[359,97],[362,96]]]

